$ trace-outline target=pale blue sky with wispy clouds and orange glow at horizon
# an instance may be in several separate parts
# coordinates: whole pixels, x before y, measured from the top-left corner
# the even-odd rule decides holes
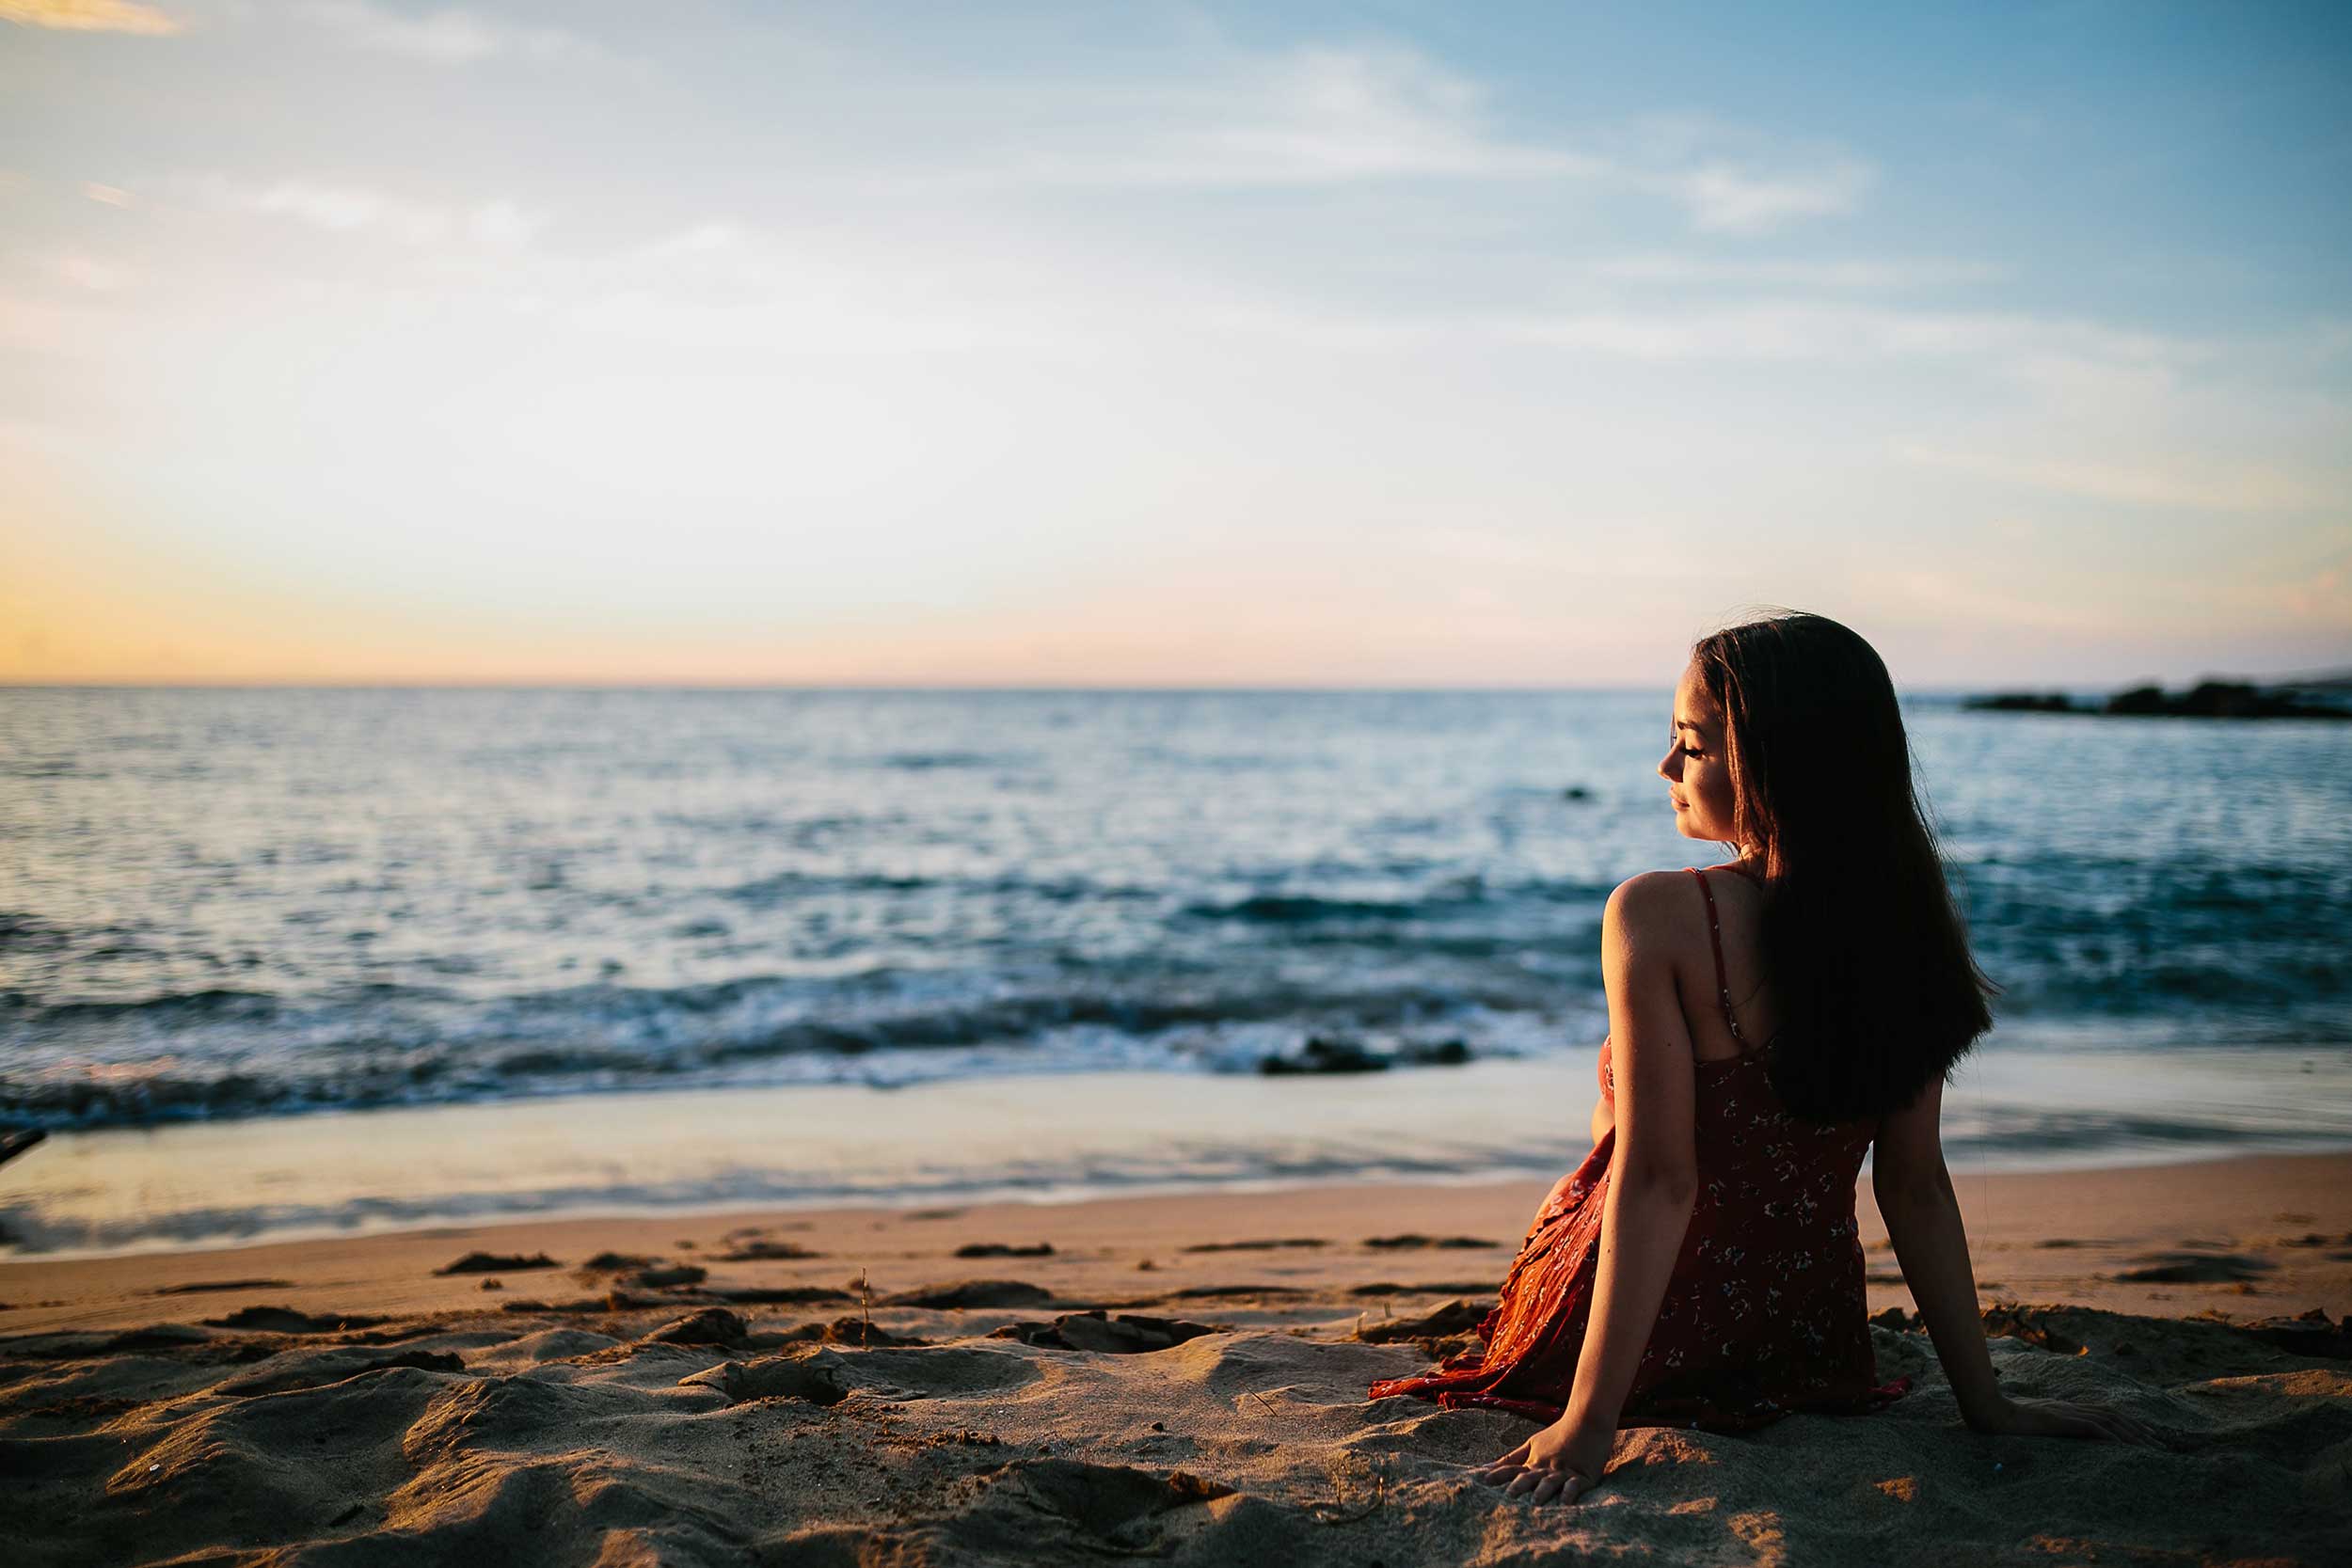
[[[0,0],[0,682],[2352,665],[2352,7]]]

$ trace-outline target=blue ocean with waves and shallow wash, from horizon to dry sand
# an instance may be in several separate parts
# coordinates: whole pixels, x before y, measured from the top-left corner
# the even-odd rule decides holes
[[[5,689],[0,1244],[1566,1168],[1668,703]],[[2352,1140],[2352,726],[1905,722],[1955,1168]]]

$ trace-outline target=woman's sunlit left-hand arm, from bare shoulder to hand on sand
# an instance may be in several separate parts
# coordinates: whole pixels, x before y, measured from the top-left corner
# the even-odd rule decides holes
[[[1698,1197],[1698,1074],[1675,987],[1675,945],[1689,922],[1675,919],[1670,893],[1677,886],[1670,872],[1646,872],[1618,886],[1602,912],[1616,1150],[1592,1316],[1559,1420],[1489,1467],[1491,1481],[1508,1479],[1512,1493],[1534,1493],[1536,1502],[1573,1500],[1609,1465],[1618,1413],[1649,1349]]]

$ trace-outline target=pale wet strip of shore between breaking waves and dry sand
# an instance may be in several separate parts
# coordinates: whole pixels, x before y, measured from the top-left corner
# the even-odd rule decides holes
[[[1947,1164],[1990,1175],[2352,1152],[2352,1058],[2180,1051],[2131,1067],[2098,1051],[1971,1058],[1945,1098]],[[1548,1185],[1583,1157],[1590,1100],[1592,1051],[1562,1051],[1334,1077],[677,1086],[56,1131],[0,1171],[0,1260],[612,1215]]]

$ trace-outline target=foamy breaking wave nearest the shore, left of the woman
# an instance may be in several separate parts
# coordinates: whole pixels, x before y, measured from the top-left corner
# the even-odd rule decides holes
[[[908,999],[887,994],[898,980],[908,978],[583,985],[499,1004],[376,985],[343,990],[332,1006],[219,992],[31,1009],[0,1016],[0,1048],[16,1046],[0,1058],[9,1063],[0,1114],[92,1128],[661,1084],[915,1081],[983,1065],[1256,1072],[1315,1037],[1418,1067],[1519,1053],[1543,1030],[1590,1023],[1545,1006],[1557,999],[1536,983],[1456,994],[1367,983]]]

